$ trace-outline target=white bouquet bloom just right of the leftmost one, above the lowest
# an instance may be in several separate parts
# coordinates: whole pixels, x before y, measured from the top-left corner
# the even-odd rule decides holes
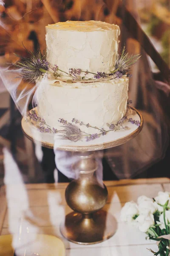
[[[147,198],[146,196],[142,195],[138,198],[138,208],[139,214],[148,215],[149,213],[154,213],[158,209],[156,205],[153,203],[153,199]]]

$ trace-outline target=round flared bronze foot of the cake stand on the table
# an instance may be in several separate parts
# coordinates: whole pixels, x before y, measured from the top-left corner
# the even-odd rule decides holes
[[[91,215],[71,212],[60,226],[62,235],[77,244],[97,244],[109,239],[117,229],[115,218],[103,210]]]

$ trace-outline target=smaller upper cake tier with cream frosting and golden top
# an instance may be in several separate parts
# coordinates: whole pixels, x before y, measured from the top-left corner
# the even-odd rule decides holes
[[[101,21],[66,21],[46,26],[47,60],[68,72],[114,70],[119,26]]]

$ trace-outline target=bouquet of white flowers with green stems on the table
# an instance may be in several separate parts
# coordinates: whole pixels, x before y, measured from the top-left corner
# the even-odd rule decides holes
[[[168,256],[170,253],[170,193],[159,192],[155,198],[142,195],[137,204],[128,202],[121,210],[121,220],[135,225],[155,240],[159,250],[154,255]]]

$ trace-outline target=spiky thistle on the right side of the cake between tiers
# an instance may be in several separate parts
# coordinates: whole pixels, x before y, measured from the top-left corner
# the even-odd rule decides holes
[[[125,46],[123,47],[122,54],[117,55],[115,70],[111,71],[111,73],[116,73],[117,71],[121,72],[123,75],[128,73],[135,64],[135,62],[141,57],[140,54],[130,55],[126,52]]]

